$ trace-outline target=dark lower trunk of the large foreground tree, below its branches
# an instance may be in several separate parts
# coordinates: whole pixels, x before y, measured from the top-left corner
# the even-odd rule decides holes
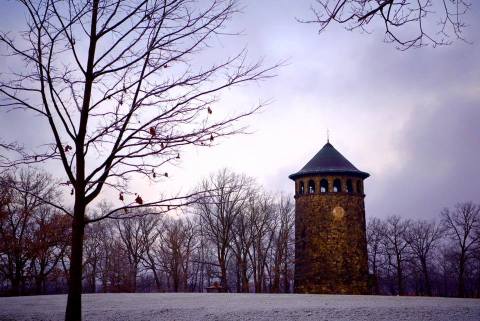
[[[72,222],[72,253],[70,257],[69,286],[65,321],[82,320],[82,261],[85,231],[85,207],[75,204]]]

